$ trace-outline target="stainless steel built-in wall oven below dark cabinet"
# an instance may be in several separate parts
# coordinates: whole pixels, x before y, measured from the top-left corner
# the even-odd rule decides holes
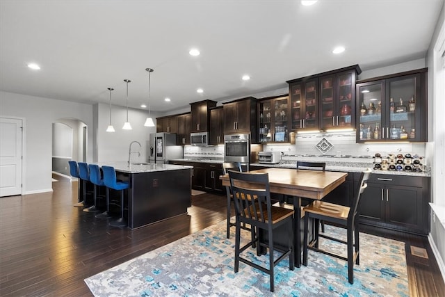
[[[224,161],[240,162],[249,168],[249,134],[230,134],[224,136]]]

